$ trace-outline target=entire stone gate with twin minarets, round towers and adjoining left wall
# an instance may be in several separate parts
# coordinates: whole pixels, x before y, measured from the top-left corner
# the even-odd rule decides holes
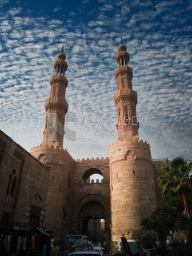
[[[129,52],[122,40],[116,63],[118,141],[110,146],[106,159],[75,160],[63,148],[68,111],[68,65],[63,49],[50,79],[42,143],[29,154],[0,131],[1,229],[45,228],[54,231],[60,241],[66,234],[93,236],[95,240],[102,237],[111,241],[113,248],[120,237],[141,237],[140,221],[158,203],[157,177],[163,161],[152,161],[149,144],[139,138],[137,93],[132,90]],[[101,182],[91,180],[93,174],[102,175]],[[99,234],[98,220],[104,220],[103,234]]]

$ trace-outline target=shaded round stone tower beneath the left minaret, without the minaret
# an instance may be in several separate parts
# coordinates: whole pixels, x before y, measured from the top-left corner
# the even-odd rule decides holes
[[[31,154],[42,161],[51,171],[47,195],[47,211],[44,227],[51,229],[57,239],[63,239],[70,216],[70,194],[75,162],[67,150],[60,147],[40,145]]]

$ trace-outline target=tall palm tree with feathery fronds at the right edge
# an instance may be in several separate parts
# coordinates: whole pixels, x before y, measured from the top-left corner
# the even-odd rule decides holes
[[[162,175],[158,178],[163,197],[169,194],[182,197],[184,215],[189,221],[189,255],[192,255],[192,179],[189,176],[191,168],[191,161],[188,163],[188,160],[185,160],[183,157],[175,157],[172,161],[164,162],[164,166],[161,167]]]

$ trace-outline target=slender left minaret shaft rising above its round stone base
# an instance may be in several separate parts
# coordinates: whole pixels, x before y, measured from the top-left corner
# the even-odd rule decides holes
[[[58,145],[63,147],[65,115],[68,111],[68,103],[65,100],[65,90],[68,85],[65,71],[67,70],[66,56],[63,48],[58,54],[58,60],[54,62],[55,74],[50,79],[51,93],[45,102],[47,112],[43,145]]]

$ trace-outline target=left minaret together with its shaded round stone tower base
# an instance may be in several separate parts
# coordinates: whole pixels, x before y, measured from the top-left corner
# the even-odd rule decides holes
[[[65,115],[68,104],[65,90],[68,85],[65,71],[66,56],[62,51],[54,62],[55,74],[50,79],[51,93],[45,102],[46,120],[44,140],[31,154],[50,168],[49,189],[45,209],[44,228],[54,231],[55,237],[63,239],[67,216],[70,216],[70,177],[74,171],[74,159],[63,149]],[[69,217],[68,217],[69,218]]]

